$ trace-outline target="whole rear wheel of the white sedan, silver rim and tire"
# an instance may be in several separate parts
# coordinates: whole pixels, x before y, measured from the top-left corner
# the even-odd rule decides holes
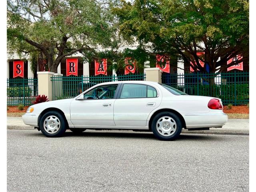
[[[151,129],[156,138],[170,141],[178,138],[182,130],[182,123],[176,114],[160,112],[154,117]]]

